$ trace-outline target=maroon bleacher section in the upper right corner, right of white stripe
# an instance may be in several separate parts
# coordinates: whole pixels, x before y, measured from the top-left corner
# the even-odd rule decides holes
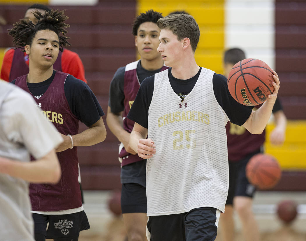
[[[306,119],[306,1],[276,0],[276,69],[289,119]]]

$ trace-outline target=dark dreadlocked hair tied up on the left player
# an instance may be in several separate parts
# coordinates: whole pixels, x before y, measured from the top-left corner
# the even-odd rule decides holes
[[[27,44],[30,46],[32,45],[33,39],[38,31],[49,29],[58,35],[60,51],[63,51],[63,46],[71,46],[67,41],[67,39],[69,39],[69,37],[66,36],[68,31],[65,29],[70,26],[64,23],[69,17],[64,13],[65,10],[59,11],[53,9],[44,14],[35,11],[34,16],[38,19],[36,25],[34,25],[32,21],[27,22],[23,19],[19,20],[17,23],[13,24],[14,27],[12,29],[8,30],[9,35],[14,38],[13,45],[17,46],[17,48],[21,48],[24,52],[24,46]],[[60,36],[60,33],[62,33],[63,36]]]

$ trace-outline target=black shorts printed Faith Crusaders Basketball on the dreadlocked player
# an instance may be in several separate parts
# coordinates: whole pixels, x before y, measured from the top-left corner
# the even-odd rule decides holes
[[[32,213],[32,217],[34,219],[34,233],[42,234],[47,239],[75,238],[79,236],[80,231],[90,228],[84,210],[63,215]],[[49,223],[48,229],[47,223]]]

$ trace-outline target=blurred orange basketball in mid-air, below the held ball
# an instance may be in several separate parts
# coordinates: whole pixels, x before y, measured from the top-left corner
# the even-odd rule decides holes
[[[274,187],[281,178],[281,168],[278,161],[266,154],[256,154],[245,168],[249,182],[260,189]]]

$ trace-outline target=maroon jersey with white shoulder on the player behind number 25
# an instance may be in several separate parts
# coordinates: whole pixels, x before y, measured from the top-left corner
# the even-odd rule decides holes
[[[125,74],[124,74],[123,92],[125,98],[124,98],[124,110],[122,113],[122,117],[123,117],[123,128],[129,133],[132,132],[135,122],[126,117],[131,109],[131,106],[136,98],[137,92],[140,87],[140,82],[138,80],[137,71],[136,71],[137,64],[138,61],[135,61],[126,65]],[[160,71],[163,71],[165,69],[169,69],[169,67],[163,66]],[[128,153],[124,147],[120,151],[119,157],[122,158],[122,166],[143,160],[143,158],[139,157],[138,154],[132,155]]]

